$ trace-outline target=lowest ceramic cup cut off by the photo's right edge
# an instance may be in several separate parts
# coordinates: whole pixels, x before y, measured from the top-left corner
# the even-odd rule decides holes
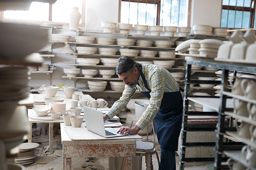
[[[256,150],[252,149],[249,145],[245,145],[241,152],[245,158],[246,163],[251,167],[256,167]]]

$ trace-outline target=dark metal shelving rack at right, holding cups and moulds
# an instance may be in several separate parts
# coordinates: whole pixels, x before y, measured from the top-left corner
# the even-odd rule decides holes
[[[219,82],[221,84],[221,93],[219,98],[215,98],[214,96],[203,96],[200,98],[195,98],[195,96],[189,94],[189,85],[190,83],[200,82],[203,84],[216,84],[216,81],[199,81],[199,80],[191,80],[191,65],[200,65],[200,66],[211,66],[215,68],[222,69],[222,80]],[[194,60],[187,60],[186,62],[186,78],[185,78],[185,97],[183,103],[183,121],[182,121],[182,141],[181,141],[181,151],[180,151],[180,169],[184,169],[184,164],[186,162],[203,162],[203,161],[214,161],[215,162],[215,170],[219,169],[228,169],[227,165],[221,164],[221,162],[226,161],[229,157],[233,158],[236,161],[239,161],[246,167],[246,164],[243,156],[241,155],[241,148],[248,144],[251,147],[256,148],[256,144],[251,142],[249,139],[244,137],[240,137],[236,133],[236,128],[232,126],[231,121],[227,126],[225,124],[225,119],[230,117],[240,119],[240,122],[246,122],[251,125],[256,125],[256,122],[249,119],[248,117],[234,115],[232,109],[232,99],[236,98],[239,100],[243,100],[245,102],[250,102],[256,104],[256,100],[248,100],[244,96],[232,94],[228,92],[228,71],[243,71],[243,72],[252,72],[256,73],[256,65],[255,64],[240,64],[240,63],[232,63],[232,62],[222,62],[222,61],[214,61],[212,59],[206,58],[198,58],[196,57]],[[193,101],[205,105],[216,112],[189,112],[188,111],[188,102]],[[189,127],[187,124],[188,115],[210,115],[210,116],[218,116],[218,126],[215,128],[205,127],[205,128],[193,128]],[[188,131],[210,131],[214,130],[217,132],[217,140],[216,142],[194,142],[188,143],[186,142],[186,133]],[[225,140],[226,139],[226,140]],[[229,139],[229,140],[228,140]],[[215,157],[214,158],[186,158],[185,150],[188,147],[215,147]],[[248,167],[249,169],[255,169],[252,167]]]

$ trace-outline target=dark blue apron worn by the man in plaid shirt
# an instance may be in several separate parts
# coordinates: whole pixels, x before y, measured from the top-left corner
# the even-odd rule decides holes
[[[147,92],[141,92],[146,98],[150,99],[151,89],[148,88],[145,76],[140,70],[144,86]],[[180,88],[180,91],[184,91]],[[167,151],[178,150],[178,140],[182,123],[183,100],[180,91],[164,92],[159,111],[154,118],[154,125],[157,139],[161,149]]]

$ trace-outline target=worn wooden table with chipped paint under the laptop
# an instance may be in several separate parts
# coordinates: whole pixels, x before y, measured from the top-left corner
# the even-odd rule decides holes
[[[60,123],[63,145],[62,169],[71,169],[71,159],[75,157],[125,157],[125,169],[132,169],[136,153],[136,140],[139,135],[104,138],[81,128],[72,128]]]

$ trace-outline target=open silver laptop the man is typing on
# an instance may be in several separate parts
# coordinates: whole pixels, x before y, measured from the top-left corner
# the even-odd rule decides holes
[[[104,127],[103,113],[101,111],[87,106],[83,106],[83,111],[87,130],[103,137],[125,136],[117,133],[116,129]]]

